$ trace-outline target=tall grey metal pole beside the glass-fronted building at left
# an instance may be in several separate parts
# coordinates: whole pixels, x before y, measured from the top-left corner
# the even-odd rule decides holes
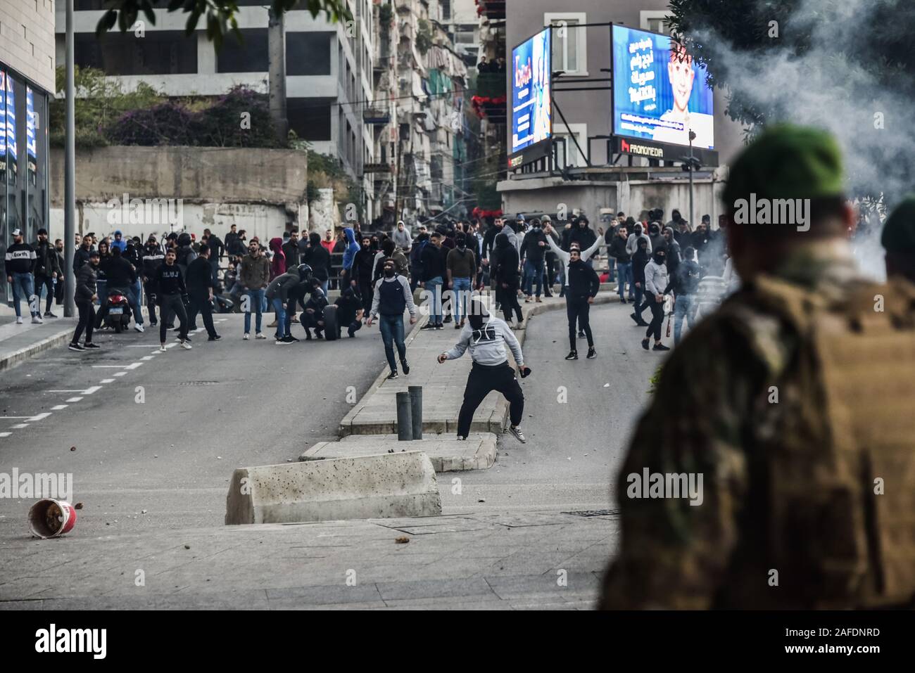
[[[76,278],[73,275],[73,255],[76,253],[76,245],[73,242],[73,237],[76,235],[76,114],[74,108],[75,87],[73,86],[73,0],[66,0],[66,2],[67,81],[64,88],[64,96],[66,97],[64,102],[66,106],[67,132],[63,167],[63,315],[70,318],[73,317],[76,309],[76,304],[73,300],[73,294],[76,290]]]

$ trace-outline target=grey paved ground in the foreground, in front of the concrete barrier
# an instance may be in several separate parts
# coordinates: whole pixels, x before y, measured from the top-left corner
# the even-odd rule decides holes
[[[79,526],[61,539],[0,540],[0,609],[589,610],[619,534],[608,510],[103,538]]]

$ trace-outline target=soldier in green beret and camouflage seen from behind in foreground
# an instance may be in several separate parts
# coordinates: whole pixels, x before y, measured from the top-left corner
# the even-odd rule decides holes
[[[751,194],[810,199],[809,217],[739,224]],[[599,606],[912,607],[915,286],[858,275],[828,134],[772,127],[724,197],[744,286],[662,370]]]

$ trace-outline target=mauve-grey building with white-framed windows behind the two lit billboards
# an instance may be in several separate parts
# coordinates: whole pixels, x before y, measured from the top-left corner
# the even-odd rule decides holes
[[[479,1],[490,4],[490,0]],[[506,214],[554,213],[564,204],[570,212],[585,211],[592,226],[601,209],[622,210],[638,218],[646,208],[663,208],[667,215],[673,208],[680,208],[684,218],[689,219],[688,174],[679,164],[668,162],[662,166],[663,161],[618,156],[609,148],[609,83],[593,81],[610,75],[606,71],[610,66],[609,28],[585,26],[613,22],[666,33],[667,1],[568,0],[560,7],[550,0],[505,0],[501,5],[508,16],[504,51],[508,60],[511,48],[543,27],[565,27],[562,34],[554,31],[553,70],[562,71],[563,75],[554,79],[553,170],[538,165],[510,170],[498,185]],[[506,78],[509,76],[507,73]],[[585,83],[587,80],[592,81]],[[598,91],[557,91],[576,87],[594,87]],[[557,113],[557,106],[565,115],[565,122]],[[724,175],[721,166],[727,165],[741,145],[740,128],[727,119],[725,107],[723,95],[716,91],[714,128],[719,166],[704,166],[694,174],[696,221],[707,213],[716,222],[715,195]],[[684,155],[687,153],[684,149]],[[594,167],[588,166],[588,159]]]

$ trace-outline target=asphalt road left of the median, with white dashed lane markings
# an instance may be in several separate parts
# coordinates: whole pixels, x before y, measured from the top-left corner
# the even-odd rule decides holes
[[[348,396],[358,400],[384,366],[377,327],[277,346],[242,341],[242,315],[221,317],[222,340],[200,332],[188,351],[157,353],[151,329],[103,332],[99,350],[57,347],[3,372],[0,472],[72,474],[83,535],[221,526],[235,467],[296,460],[336,439]],[[31,502],[0,498],[0,539],[21,537]]]

